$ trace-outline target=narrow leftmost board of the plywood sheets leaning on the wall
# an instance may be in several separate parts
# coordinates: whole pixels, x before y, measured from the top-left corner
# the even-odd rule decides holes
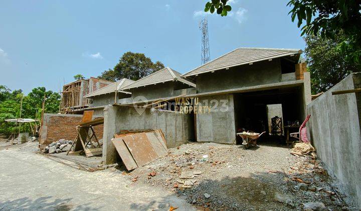
[[[138,168],[122,138],[112,139],[113,145],[128,171]]]

